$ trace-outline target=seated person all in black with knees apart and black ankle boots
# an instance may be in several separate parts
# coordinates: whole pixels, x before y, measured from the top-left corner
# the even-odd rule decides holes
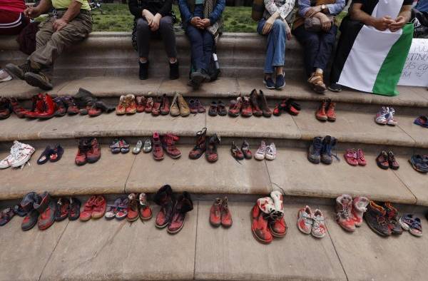
[[[140,79],[148,78],[148,53],[152,36],[162,37],[169,58],[170,79],[178,79],[180,75],[171,13],[173,0],[129,0],[128,6],[131,14],[135,16],[133,45],[136,46],[140,57]]]

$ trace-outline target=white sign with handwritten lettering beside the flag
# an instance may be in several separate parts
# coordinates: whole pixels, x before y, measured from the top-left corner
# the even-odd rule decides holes
[[[413,39],[398,85],[428,86],[428,39]]]

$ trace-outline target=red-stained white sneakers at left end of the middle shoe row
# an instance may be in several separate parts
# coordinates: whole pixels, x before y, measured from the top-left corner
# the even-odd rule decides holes
[[[24,168],[24,165],[29,162],[31,155],[36,149],[29,144],[14,141],[11,146],[10,154],[0,161],[0,169]]]

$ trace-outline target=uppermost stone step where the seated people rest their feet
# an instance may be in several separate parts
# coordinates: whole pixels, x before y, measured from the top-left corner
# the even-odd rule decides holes
[[[258,78],[233,78],[230,76],[220,77],[218,81],[204,84],[198,91],[193,91],[187,86],[186,73],[182,78],[170,81],[167,78],[150,78],[141,81],[138,76],[97,76],[85,78],[63,78],[54,81],[54,89],[49,91],[53,95],[74,95],[78,88],[86,88],[96,96],[118,97],[123,94],[135,95],[162,95],[167,93],[173,96],[175,91],[183,93],[184,96],[200,98],[230,98],[239,94],[248,95],[254,88],[262,89],[269,98],[296,98],[300,101],[320,101],[331,98],[338,103],[360,103],[364,105],[389,105],[407,106],[414,108],[428,107],[428,97],[425,88],[399,86],[399,96],[388,97],[362,93],[346,89],[340,93],[327,92],[325,95],[314,93],[304,79],[293,80],[286,77],[287,86],[282,91],[268,90],[263,85],[263,73]],[[21,99],[29,99],[39,93],[40,89],[27,85],[24,81],[13,80],[0,83],[0,96],[13,96]]]

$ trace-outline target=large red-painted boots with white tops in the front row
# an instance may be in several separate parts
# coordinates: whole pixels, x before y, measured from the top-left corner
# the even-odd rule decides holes
[[[280,238],[287,234],[282,194],[279,191],[272,191],[270,197],[258,199],[251,211],[251,218],[251,230],[259,242],[269,244],[274,237]]]

